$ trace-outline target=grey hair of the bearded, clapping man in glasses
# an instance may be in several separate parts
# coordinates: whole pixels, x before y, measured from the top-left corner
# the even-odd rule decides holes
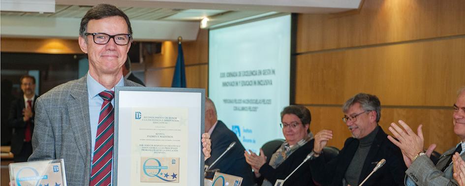
[[[376,95],[358,93],[357,95],[345,101],[344,105],[342,106],[342,112],[347,113],[349,107],[355,103],[359,103],[364,111],[376,111],[376,123],[379,122],[379,119],[381,119],[381,102],[379,101],[378,97],[376,97]]]

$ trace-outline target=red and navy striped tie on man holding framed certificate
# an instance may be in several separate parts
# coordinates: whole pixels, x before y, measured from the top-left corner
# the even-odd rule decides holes
[[[103,98],[98,117],[97,135],[91,170],[91,186],[108,186],[111,184],[111,167],[113,160],[113,133],[115,112],[111,105],[113,91],[99,93]]]

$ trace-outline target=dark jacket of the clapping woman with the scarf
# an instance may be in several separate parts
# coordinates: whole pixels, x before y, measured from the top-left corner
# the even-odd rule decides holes
[[[289,174],[294,171],[304,159],[309,155],[313,149],[314,139],[307,142],[304,146],[297,149],[294,153],[289,155],[276,169],[269,165],[269,160],[260,168],[259,172],[261,177],[258,179],[258,185],[264,178],[275,185],[277,179],[284,180]],[[310,172],[309,161],[300,166],[297,171],[292,174],[289,179],[284,182],[283,186],[314,186],[311,179],[312,173]]]

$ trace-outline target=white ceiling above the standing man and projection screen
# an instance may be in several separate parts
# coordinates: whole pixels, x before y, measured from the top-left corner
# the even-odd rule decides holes
[[[80,19],[93,5],[112,3],[128,15],[136,40],[176,40],[178,36],[183,36],[185,40],[195,40],[200,20],[204,17],[209,17],[211,21],[208,26],[211,27],[268,12],[346,11],[358,8],[360,1],[1,0],[0,34],[2,37],[76,38]]]

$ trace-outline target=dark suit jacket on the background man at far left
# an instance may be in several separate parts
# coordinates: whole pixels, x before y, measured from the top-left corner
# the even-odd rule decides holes
[[[35,95],[35,100],[37,100],[37,95]],[[8,126],[12,128],[11,133],[11,153],[19,154],[23,149],[24,143],[24,132],[26,131],[26,122],[23,121],[23,109],[26,108],[24,104],[24,96],[21,96],[19,99],[15,99],[11,103],[11,109],[8,116]],[[31,132],[34,131],[34,106],[32,106],[32,117],[31,117]]]

